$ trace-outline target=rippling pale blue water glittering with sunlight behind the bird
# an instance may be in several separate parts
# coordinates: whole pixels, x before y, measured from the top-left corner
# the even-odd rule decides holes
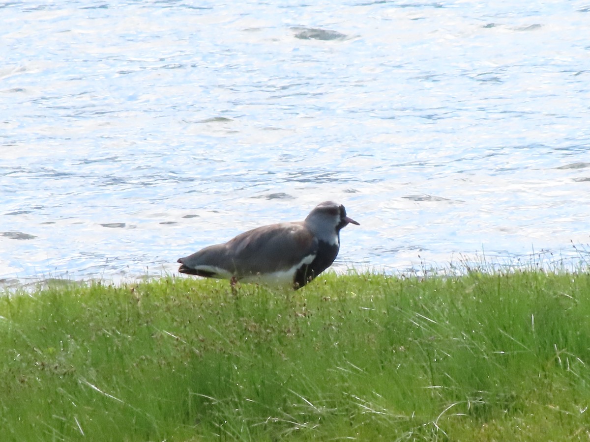
[[[590,4],[238,3],[0,4],[0,279],[172,273],[327,199],[340,270],[587,262]]]

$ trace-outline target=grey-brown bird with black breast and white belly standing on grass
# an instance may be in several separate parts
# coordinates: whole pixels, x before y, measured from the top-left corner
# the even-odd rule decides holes
[[[229,279],[232,288],[241,281],[297,290],[332,265],[349,224],[360,225],[342,204],[325,201],[303,221],[257,227],[180,258],[178,271]]]

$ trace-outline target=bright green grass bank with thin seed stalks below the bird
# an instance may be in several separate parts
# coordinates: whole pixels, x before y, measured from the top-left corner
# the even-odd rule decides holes
[[[2,440],[588,440],[590,275],[0,298]]]

